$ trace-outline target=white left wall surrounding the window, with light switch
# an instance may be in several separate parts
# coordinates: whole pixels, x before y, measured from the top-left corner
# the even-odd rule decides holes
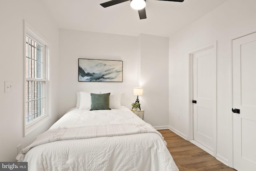
[[[52,96],[52,118],[26,137],[23,137],[23,20],[50,43]],[[0,21],[0,161],[16,161],[17,145],[21,143],[23,148],[29,145],[58,117],[58,28],[38,0],[1,0]],[[4,93],[4,81],[13,82],[12,93]]]

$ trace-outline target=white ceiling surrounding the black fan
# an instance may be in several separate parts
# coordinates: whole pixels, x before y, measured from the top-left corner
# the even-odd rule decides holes
[[[146,1],[147,18],[140,20],[130,1],[107,8],[108,0],[42,0],[59,28],[138,36],[174,34],[226,0]]]

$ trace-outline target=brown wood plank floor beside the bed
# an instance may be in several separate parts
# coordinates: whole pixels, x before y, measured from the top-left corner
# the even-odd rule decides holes
[[[180,171],[236,171],[169,129],[158,131],[167,142],[167,148]]]

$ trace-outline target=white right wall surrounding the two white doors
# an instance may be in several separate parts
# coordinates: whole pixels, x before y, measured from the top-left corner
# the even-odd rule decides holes
[[[188,137],[189,61],[188,51],[217,41],[217,159],[228,164],[229,59],[233,35],[256,27],[255,0],[228,0],[190,26],[170,36],[169,42],[169,124]],[[180,115],[180,120],[178,120]]]

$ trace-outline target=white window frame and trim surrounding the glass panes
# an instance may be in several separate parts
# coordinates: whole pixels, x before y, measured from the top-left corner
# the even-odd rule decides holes
[[[42,78],[37,79],[37,78],[26,78],[26,36],[31,38],[32,40],[36,41],[38,44],[42,45],[43,50],[43,65],[42,66]],[[50,113],[50,95],[49,95],[49,43],[44,39],[43,36],[38,34],[34,28],[32,28],[25,20],[24,20],[24,54],[23,54],[23,67],[24,67],[24,111],[23,111],[23,117],[24,117],[24,137],[26,137],[29,133],[34,131],[36,128],[38,128],[40,125],[45,123],[51,118],[51,113]],[[33,81],[43,81],[45,82],[44,84],[44,93],[45,93],[45,114],[34,119],[31,122],[26,123],[26,116],[27,116],[27,111],[26,111],[26,82],[28,80],[33,80]]]

